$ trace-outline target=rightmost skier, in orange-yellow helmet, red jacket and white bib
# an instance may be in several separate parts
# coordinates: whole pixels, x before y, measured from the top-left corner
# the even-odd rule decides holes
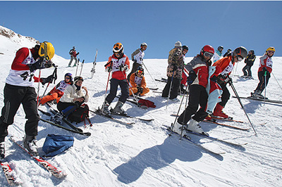
[[[259,70],[257,72],[257,77],[259,77],[259,84],[251,96],[254,98],[264,98],[262,96],[262,91],[264,91],[265,86],[269,83],[270,74],[272,72],[272,56],[274,56],[275,48],[273,46],[266,49],[264,56],[259,58]]]

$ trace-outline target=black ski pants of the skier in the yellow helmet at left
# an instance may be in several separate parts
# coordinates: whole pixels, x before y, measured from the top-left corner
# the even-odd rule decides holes
[[[6,84],[4,87],[4,107],[0,117],[0,142],[8,135],[8,125],[13,124],[13,119],[23,105],[25,111],[25,134],[37,136],[39,115],[37,113],[37,94],[35,88],[28,86],[13,86]]]

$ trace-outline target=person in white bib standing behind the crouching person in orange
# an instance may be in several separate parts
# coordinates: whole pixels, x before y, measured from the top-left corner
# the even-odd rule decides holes
[[[134,51],[131,54],[131,60],[133,60],[133,68],[131,70],[131,72],[128,74],[128,82],[130,81],[130,76],[136,72],[137,67],[142,66],[143,64],[143,58],[145,56],[145,52],[147,49],[147,44],[145,42],[143,42],[140,45],[140,49],[136,49],[136,51]]]

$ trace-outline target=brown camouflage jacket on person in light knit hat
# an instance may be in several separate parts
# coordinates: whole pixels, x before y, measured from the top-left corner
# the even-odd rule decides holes
[[[166,76],[181,79],[183,71],[183,53],[181,47],[175,47],[169,51],[168,67],[166,68]],[[174,69],[174,73],[173,73]]]

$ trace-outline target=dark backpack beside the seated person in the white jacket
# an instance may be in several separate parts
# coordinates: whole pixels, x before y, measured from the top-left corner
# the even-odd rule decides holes
[[[76,124],[78,124],[79,122],[85,122],[85,119],[88,120],[88,122],[90,122],[89,107],[87,104],[80,105],[79,108],[77,108],[70,115],[68,115],[68,120],[70,122],[76,122]]]

